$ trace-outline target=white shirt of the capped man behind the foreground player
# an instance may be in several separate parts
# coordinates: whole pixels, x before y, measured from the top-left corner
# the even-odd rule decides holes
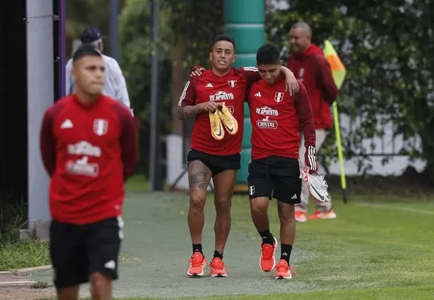
[[[105,66],[105,85],[103,94],[118,100],[130,108],[130,98],[128,96],[127,83],[123,77],[118,61],[110,56],[103,54],[103,62]],[[73,66],[72,58],[66,63],[66,95],[71,95],[76,90],[76,83],[71,76],[71,68]]]

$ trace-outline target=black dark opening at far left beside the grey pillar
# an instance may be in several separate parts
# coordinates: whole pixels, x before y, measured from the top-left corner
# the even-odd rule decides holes
[[[0,200],[16,202],[27,200],[26,1],[0,7]]]

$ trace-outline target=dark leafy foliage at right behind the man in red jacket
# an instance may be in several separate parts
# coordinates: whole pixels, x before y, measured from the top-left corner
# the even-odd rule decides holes
[[[400,154],[423,157],[434,180],[434,1],[286,1],[289,9],[267,15],[278,45],[296,21],[308,22],[314,41],[329,38],[347,68],[339,105],[360,123],[346,139],[347,157],[370,153],[362,140],[381,137],[392,123],[405,146]],[[418,150],[415,136],[422,141]],[[334,140],[334,139],[331,139]],[[329,149],[331,150],[331,149]]]

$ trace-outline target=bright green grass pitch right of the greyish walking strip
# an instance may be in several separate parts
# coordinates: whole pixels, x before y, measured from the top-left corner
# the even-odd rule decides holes
[[[434,299],[430,197],[353,195],[347,205],[334,197],[334,208],[335,220],[297,223],[293,256],[303,259],[294,264],[299,276],[292,280],[314,292],[197,299]],[[278,235],[274,201],[269,214],[272,232]],[[232,230],[257,238],[245,196],[234,197],[232,216]]]

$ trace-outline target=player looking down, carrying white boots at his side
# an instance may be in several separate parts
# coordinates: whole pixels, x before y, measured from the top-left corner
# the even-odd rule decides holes
[[[264,45],[257,51],[261,80],[252,85],[247,98],[252,122],[252,161],[249,163],[249,198],[254,226],[262,237],[259,266],[276,269],[276,279],[290,279],[289,257],[295,237],[294,205],[300,203],[299,125],[304,134],[306,166],[317,169],[314,115],[303,83],[294,96],[285,91],[279,75],[279,50]],[[277,239],[269,230],[268,203],[277,199],[281,255],[276,265]]]

